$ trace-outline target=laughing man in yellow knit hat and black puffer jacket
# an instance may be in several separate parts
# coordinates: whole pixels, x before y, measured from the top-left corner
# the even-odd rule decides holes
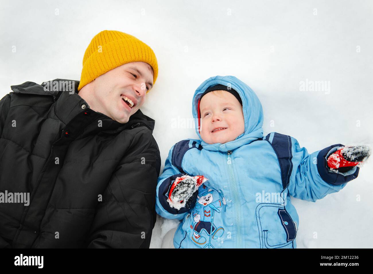
[[[160,153],[142,114],[153,50],[102,31],[80,81],[11,86],[0,101],[0,247],[149,248]]]

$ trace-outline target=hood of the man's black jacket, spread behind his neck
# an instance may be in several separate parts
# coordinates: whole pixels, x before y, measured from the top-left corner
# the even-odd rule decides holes
[[[68,80],[68,79],[54,79],[52,81],[53,82],[54,81],[56,81],[56,82],[59,82],[59,81],[69,81],[68,83],[74,82],[73,84],[74,84],[74,88],[75,88],[75,93],[79,95],[79,92],[78,92],[79,81]],[[46,86],[47,83],[48,82],[43,82],[41,85],[39,85],[39,84],[34,83],[34,82],[25,82],[25,83],[22,83],[20,85],[14,85],[14,86],[10,86],[10,87],[16,93],[49,95],[49,96],[54,96],[56,98],[56,100],[57,100],[57,98],[60,97],[60,95],[62,94],[62,92],[69,93],[68,90],[66,90],[66,91],[53,90],[53,89],[52,90],[45,90],[44,86]],[[79,98],[80,98],[80,96],[79,96]],[[85,102],[85,103],[87,103],[87,102]],[[87,105],[88,105],[88,103],[87,103]],[[98,113],[100,113],[100,112],[98,112]],[[122,123],[119,123],[117,121],[114,121],[114,120],[112,120],[112,118],[108,117],[105,114],[101,114],[101,115],[103,115],[104,119],[112,121],[112,124],[110,125],[111,129],[110,130],[106,130],[107,132],[110,132],[110,133],[115,133],[117,131],[122,131],[125,128],[128,128],[128,127],[130,127],[130,128],[138,127],[140,125],[144,125],[152,133],[153,133],[153,130],[154,130],[155,121],[152,118],[150,118],[150,117],[146,116],[145,114],[143,114],[140,109],[138,109],[137,112],[135,112],[134,114],[132,114],[131,117],[129,117],[128,122],[126,122],[125,124],[122,124]]]

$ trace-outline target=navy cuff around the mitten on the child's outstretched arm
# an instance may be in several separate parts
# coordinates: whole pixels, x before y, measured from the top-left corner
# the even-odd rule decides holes
[[[345,184],[357,177],[359,174],[359,167],[356,167],[356,171],[350,175],[342,175],[333,171],[330,171],[330,169],[327,167],[326,163],[326,155],[329,152],[330,149],[333,147],[343,147],[342,144],[333,144],[329,147],[326,147],[325,149],[320,150],[319,154],[317,154],[317,171],[319,171],[319,174],[321,178],[331,185],[342,185]]]

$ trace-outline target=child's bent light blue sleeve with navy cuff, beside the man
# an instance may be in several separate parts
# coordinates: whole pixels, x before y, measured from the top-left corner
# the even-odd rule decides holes
[[[160,216],[164,218],[181,220],[184,218],[185,214],[194,207],[198,193],[195,192],[194,195],[189,198],[188,203],[186,203],[185,207],[181,208],[180,210],[170,207],[169,203],[167,202],[168,193],[173,181],[175,181],[177,177],[187,174],[180,171],[178,168],[176,168],[175,165],[172,164],[172,159],[174,156],[173,152],[175,153],[175,146],[176,144],[171,147],[166,159],[166,163],[164,165],[162,175],[160,175],[158,178],[156,211]]]

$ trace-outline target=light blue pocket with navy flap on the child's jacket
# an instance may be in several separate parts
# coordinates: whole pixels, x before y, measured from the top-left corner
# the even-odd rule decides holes
[[[261,203],[256,208],[260,248],[293,248],[295,223],[281,204]]]

